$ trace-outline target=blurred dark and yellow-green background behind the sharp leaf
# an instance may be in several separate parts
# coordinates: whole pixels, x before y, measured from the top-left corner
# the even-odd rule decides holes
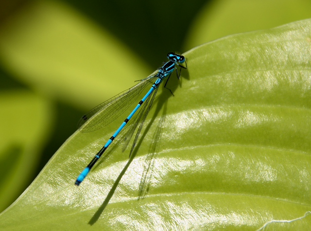
[[[308,0],[0,1],[0,211],[81,115],[168,52],[309,17]]]

